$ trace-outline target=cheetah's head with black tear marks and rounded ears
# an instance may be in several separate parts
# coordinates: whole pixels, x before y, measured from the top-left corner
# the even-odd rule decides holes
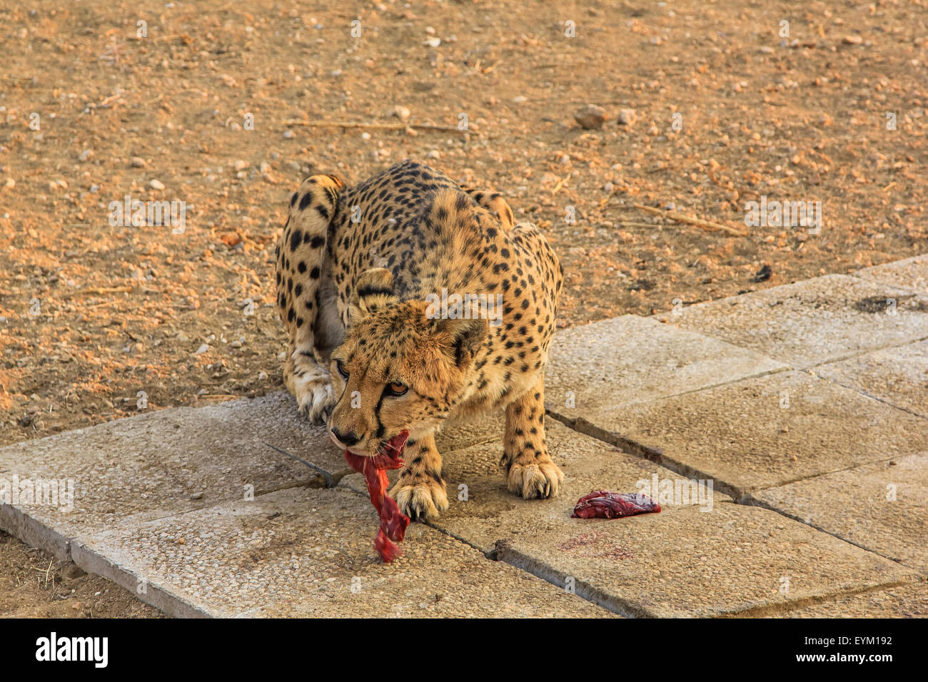
[[[338,403],[329,435],[357,455],[377,455],[404,429],[417,440],[457,404],[488,331],[486,319],[431,319],[427,302],[400,301],[393,275],[367,270],[355,286],[350,324],[332,352]]]

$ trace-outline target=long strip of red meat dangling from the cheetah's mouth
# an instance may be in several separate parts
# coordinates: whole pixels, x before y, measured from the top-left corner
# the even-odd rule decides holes
[[[367,494],[370,495],[371,504],[380,515],[380,530],[374,538],[374,548],[380,554],[384,563],[390,563],[403,553],[391,540],[402,542],[409,525],[409,517],[396,506],[393,497],[387,495],[390,481],[387,479],[388,469],[399,469],[403,466],[400,455],[406,447],[406,438],[409,431],[400,431],[384,444],[382,452],[374,457],[363,457],[345,450],[345,461],[348,465],[364,474],[367,483]]]

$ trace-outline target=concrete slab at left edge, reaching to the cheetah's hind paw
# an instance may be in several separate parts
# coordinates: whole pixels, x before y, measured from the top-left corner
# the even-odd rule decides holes
[[[77,534],[239,499],[247,491],[323,484],[265,442],[329,471],[347,468],[323,427],[298,415],[287,393],[164,409],[0,449],[0,496],[6,497],[4,481],[22,490],[27,482],[48,483],[45,504],[19,495],[0,505],[0,527],[66,559],[68,540]],[[67,493],[69,486],[73,504],[64,496],[51,504],[51,491]]]

